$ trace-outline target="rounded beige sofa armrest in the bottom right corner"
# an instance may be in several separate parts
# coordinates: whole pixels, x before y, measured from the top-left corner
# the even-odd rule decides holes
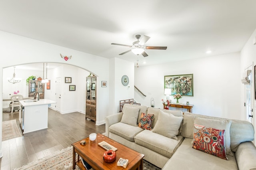
[[[240,143],[235,155],[240,170],[256,170],[256,147],[251,141]]]

